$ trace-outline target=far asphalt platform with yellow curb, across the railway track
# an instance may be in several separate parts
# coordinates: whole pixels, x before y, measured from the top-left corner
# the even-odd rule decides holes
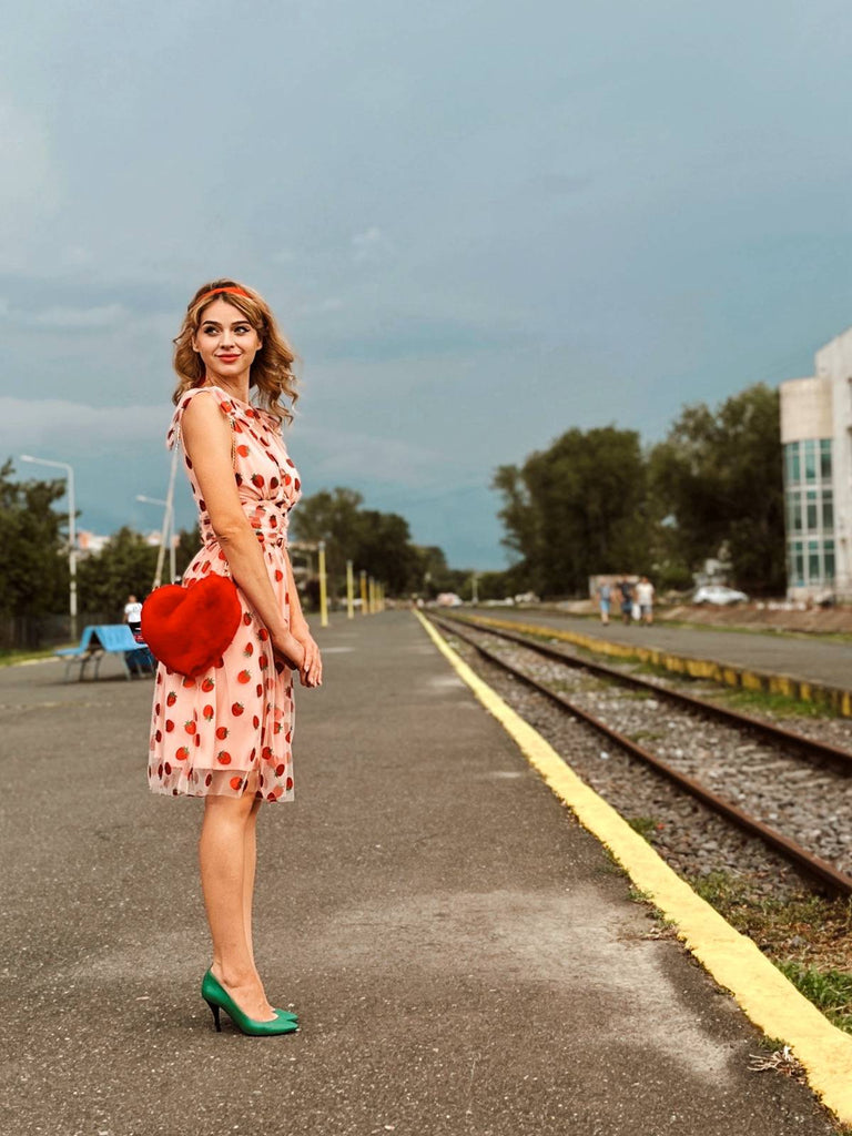
[[[840,713],[852,717],[852,643],[827,641],[816,635],[673,627],[661,623],[625,625],[617,613],[604,626],[599,619],[563,615],[552,609],[458,610],[507,625],[552,627],[579,645],[591,645],[608,654],[636,654],[693,677],[763,688],[805,701],[825,701]]]

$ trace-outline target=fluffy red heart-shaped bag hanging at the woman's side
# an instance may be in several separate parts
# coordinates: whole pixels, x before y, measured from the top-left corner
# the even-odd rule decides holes
[[[227,576],[204,576],[186,587],[166,584],[142,604],[142,635],[160,662],[194,678],[219,660],[241,615],[236,586]]]

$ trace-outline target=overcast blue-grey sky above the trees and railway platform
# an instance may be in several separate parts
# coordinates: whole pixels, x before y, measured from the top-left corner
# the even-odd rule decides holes
[[[157,527],[170,339],[235,276],[302,359],[307,492],[503,567],[498,465],[651,442],[852,323],[851,41],[840,0],[14,6],[0,458]]]

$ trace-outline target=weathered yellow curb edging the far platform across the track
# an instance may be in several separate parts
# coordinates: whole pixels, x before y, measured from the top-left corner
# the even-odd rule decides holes
[[[830,707],[835,713],[844,718],[852,718],[852,691],[844,690],[842,686],[811,683],[804,678],[774,674],[769,670],[734,667],[727,662],[696,659],[690,654],[673,654],[661,648],[642,646],[640,643],[617,643],[613,640],[585,635],[583,632],[561,630],[558,627],[545,627],[541,624],[521,624],[515,619],[494,619],[491,616],[477,616],[476,621],[527,635],[546,635],[550,638],[563,640],[566,643],[574,643],[575,646],[594,651],[595,654],[609,654],[619,659],[638,659],[641,662],[663,667],[677,675],[709,678],[724,686],[738,686],[745,691],[763,691],[766,694],[784,694],[790,699],[799,699],[801,702]]]

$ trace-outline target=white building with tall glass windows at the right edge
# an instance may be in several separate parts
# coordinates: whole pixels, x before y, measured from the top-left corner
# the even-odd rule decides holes
[[[852,328],[780,385],[787,594],[852,599]]]

